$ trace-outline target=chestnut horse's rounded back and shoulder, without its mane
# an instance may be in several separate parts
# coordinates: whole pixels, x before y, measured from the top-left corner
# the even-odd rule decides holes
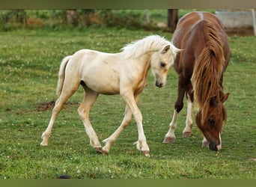
[[[187,13],[177,23],[177,28],[172,36],[174,46],[184,49],[174,61],[174,70],[176,70],[177,73],[181,73],[184,69],[188,68],[188,63],[193,64],[195,57],[198,56],[201,49],[204,48],[204,22],[211,22],[219,31],[219,35],[222,37],[225,59],[229,60],[228,38],[225,34],[224,26],[217,16],[208,12]],[[186,71],[192,72],[192,70]]]

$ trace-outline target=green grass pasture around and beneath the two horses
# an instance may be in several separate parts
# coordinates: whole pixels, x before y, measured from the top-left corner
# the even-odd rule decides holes
[[[138,108],[150,158],[136,150],[135,121],[121,133],[108,156],[96,153],[79,119],[79,88],[58,115],[48,147],[40,147],[49,123],[58,69],[64,56],[79,49],[119,52],[132,40],[150,34],[171,39],[163,31],[86,28],[63,31],[18,30],[0,34],[0,179],[255,179],[256,178],[256,37],[228,37],[231,61],[224,74],[229,92],[228,120],[222,151],[201,147],[195,120],[192,138],[183,138],[186,102],[178,119],[175,144],[162,144],[177,98],[177,74],[168,73],[163,88],[149,73]],[[124,116],[121,96],[100,95],[90,120],[100,139],[108,138]],[[195,108],[196,110],[196,108]]]

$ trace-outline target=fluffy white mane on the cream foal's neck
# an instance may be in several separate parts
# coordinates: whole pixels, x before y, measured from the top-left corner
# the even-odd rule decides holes
[[[172,46],[172,43],[159,35],[150,35],[141,40],[128,43],[121,50],[125,53],[126,58],[138,58],[146,52],[159,51],[166,45]]]

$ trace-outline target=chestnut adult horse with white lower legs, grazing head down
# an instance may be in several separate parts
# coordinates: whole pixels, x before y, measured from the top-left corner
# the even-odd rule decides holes
[[[204,147],[222,149],[222,123],[227,114],[223,102],[229,93],[223,93],[223,73],[230,59],[228,38],[222,22],[212,13],[187,13],[177,23],[172,43],[183,49],[174,61],[179,75],[177,102],[168,133],[163,143],[174,143],[177,115],[187,97],[186,127],[183,136],[192,136],[192,102],[198,104],[195,120],[204,134]]]

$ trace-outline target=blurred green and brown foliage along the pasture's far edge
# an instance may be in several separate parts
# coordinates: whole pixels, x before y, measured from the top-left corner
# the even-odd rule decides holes
[[[0,10],[0,30],[16,28],[62,29],[88,27],[144,28],[159,30],[157,22],[167,23],[167,10],[149,10],[150,22],[146,21],[146,10],[79,9],[74,10]],[[179,17],[190,10],[179,10]],[[214,10],[212,10],[214,11]],[[167,29],[168,28],[161,28]]]

